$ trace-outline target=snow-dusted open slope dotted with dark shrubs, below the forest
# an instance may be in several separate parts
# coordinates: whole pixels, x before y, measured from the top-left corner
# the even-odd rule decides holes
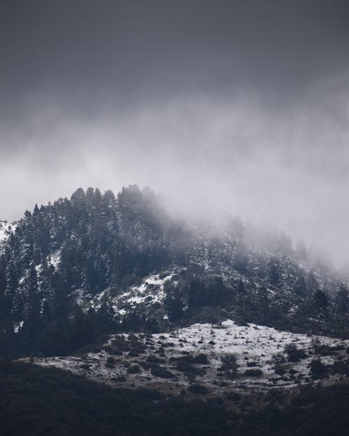
[[[290,344],[305,353],[299,361],[289,360],[285,346]],[[193,324],[170,333],[113,335],[98,352],[35,359],[35,363],[71,370],[117,386],[166,386],[166,389],[170,386],[181,391],[195,382],[205,384],[212,393],[223,393],[232,389],[265,391],[335,382],[343,375],[334,371],[333,364],[348,365],[348,349],[348,340],[295,334],[255,324],[240,326],[226,320],[218,325]],[[235,359],[235,370],[224,364]],[[327,368],[321,379],[311,377],[309,364],[313,360],[321,361]],[[159,376],[154,366],[168,373]],[[130,367],[134,367],[134,372]]]

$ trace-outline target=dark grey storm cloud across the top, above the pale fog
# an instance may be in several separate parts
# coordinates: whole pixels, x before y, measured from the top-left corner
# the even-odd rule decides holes
[[[13,110],[40,91],[74,110],[93,103],[92,111],[105,98],[118,108],[173,92],[230,97],[241,88],[293,100],[348,66],[346,1],[1,5],[1,100]]]

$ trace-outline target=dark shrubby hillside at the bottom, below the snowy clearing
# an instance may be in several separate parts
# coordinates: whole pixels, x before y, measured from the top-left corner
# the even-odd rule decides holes
[[[271,391],[260,410],[229,398],[163,396],[147,389],[110,389],[66,371],[0,363],[3,436],[301,436],[348,434],[349,386],[307,387],[291,400]],[[231,412],[235,404],[240,410]]]

